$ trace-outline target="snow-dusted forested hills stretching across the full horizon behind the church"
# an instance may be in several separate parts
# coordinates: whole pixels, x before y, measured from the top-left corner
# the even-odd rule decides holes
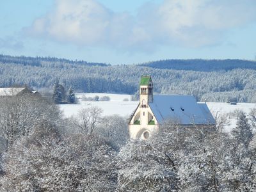
[[[193,95],[209,102],[256,102],[256,62],[244,60],[165,60],[138,65],[106,65],[61,58],[0,55],[0,87],[26,84],[52,89],[56,79],[76,92],[138,91],[141,75],[152,76],[154,92]]]

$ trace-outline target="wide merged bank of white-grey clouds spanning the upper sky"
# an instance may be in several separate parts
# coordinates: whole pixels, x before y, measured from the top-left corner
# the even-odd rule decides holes
[[[45,17],[27,29],[77,45],[145,49],[161,44],[200,47],[221,42],[226,31],[256,20],[254,0],[166,0],[145,4],[136,17],[115,13],[95,0],[56,0]]]

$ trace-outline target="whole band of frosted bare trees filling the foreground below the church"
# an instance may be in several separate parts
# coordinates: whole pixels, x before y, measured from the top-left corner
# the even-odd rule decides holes
[[[29,95],[0,100],[0,191],[255,191],[256,109],[237,125],[180,127],[166,120],[149,140],[127,121]]]

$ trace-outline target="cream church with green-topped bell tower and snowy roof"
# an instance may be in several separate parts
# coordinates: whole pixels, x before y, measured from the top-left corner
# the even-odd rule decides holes
[[[207,104],[189,95],[153,95],[151,77],[141,76],[140,103],[129,122],[130,138],[147,140],[167,120],[186,127],[215,124]]]

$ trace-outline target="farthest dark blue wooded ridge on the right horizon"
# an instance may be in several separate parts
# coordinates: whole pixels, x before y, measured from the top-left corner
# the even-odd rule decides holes
[[[218,71],[247,68],[256,70],[256,61],[248,60],[161,60],[142,63],[140,66],[174,70]]]

